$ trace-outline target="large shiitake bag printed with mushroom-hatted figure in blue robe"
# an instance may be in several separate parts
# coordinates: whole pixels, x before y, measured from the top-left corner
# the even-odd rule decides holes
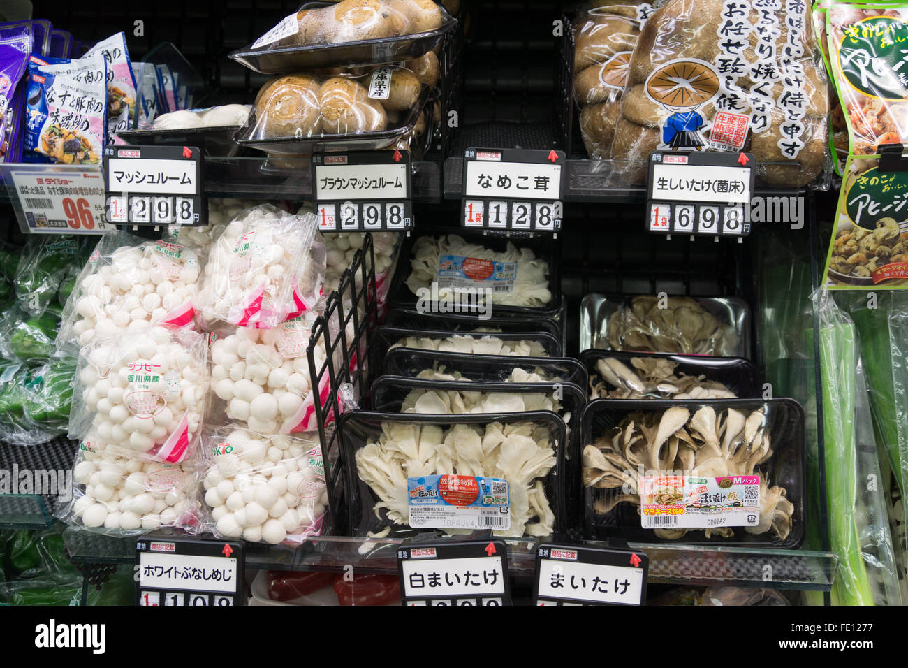
[[[668,0],[631,56],[611,157],[643,183],[648,156],[746,151],[772,186],[811,183],[828,156],[826,76],[803,0]]]

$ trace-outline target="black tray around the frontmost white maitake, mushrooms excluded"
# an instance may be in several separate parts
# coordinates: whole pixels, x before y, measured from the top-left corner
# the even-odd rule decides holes
[[[373,507],[378,499],[373,494],[370,486],[360,480],[356,467],[356,451],[364,447],[369,441],[376,442],[381,434],[382,423],[399,424],[439,424],[447,429],[454,424],[511,424],[532,422],[546,424],[553,437],[557,439],[555,448],[558,463],[552,468],[545,478],[544,486],[548,496],[549,507],[555,514],[554,531],[560,530],[564,485],[559,478],[559,466],[564,461],[565,424],[557,414],[549,411],[531,411],[520,414],[477,414],[477,415],[417,415],[397,413],[371,413],[368,411],[352,411],[341,415],[338,429],[341,434],[341,462],[344,466],[344,475],[347,481],[347,510],[350,518],[350,535],[365,536],[367,532],[378,532],[386,526],[391,527],[390,536],[394,538],[407,538],[419,533],[434,533],[439,529],[413,529],[405,524],[394,524],[387,517],[380,519],[376,516]],[[384,515],[384,513],[382,513]]]

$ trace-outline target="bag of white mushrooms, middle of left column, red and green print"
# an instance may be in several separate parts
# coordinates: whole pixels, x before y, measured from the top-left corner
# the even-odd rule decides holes
[[[182,462],[192,456],[207,401],[208,334],[154,326],[97,339],[80,355],[69,437],[97,449]]]

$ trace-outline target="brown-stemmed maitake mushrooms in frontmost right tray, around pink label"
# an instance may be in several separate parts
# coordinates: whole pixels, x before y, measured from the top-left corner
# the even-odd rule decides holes
[[[665,413],[633,413],[583,450],[583,484],[604,493],[594,493],[594,511],[610,513],[618,503],[635,503],[639,512],[638,477],[683,471],[686,475],[724,477],[760,476],[760,523],[745,527],[748,533],[772,531],[785,540],[791,532],[795,505],[785,498],[785,488],[770,487],[757,466],[773,451],[764,411],[745,416],[734,408],[716,417],[711,406],[691,416],[683,406]],[[622,487],[631,494],[619,494]],[[693,529],[655,529],[660,538],[676,540]],[[730,527],[706,529],[706,537],[729,538]]]

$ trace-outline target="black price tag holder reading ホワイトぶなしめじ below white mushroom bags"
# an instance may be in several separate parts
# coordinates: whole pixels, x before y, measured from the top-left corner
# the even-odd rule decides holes
[[[242,541],[144,535],[135,542],[137,605],[245,605]]]

